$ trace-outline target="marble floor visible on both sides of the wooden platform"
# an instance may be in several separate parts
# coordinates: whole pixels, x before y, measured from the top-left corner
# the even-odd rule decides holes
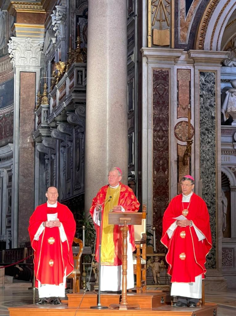
[[[38,290],[32,289],[0,289],[0,316],[9,315],[8,307],[34,304],[38,301]],[[205,294],[205,301],[219,305],[217,316],[236,315],[236,289],[227,292],[210,292]]]

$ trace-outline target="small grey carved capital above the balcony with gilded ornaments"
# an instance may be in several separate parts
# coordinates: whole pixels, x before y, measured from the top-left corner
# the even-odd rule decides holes
[[[52,25],[53,30],[56,31],[55,36],[57,39],[65,37],[65,21],[66,21],[66,7],[62,5],[56,5],[56,10],[53,10],[52,17]]]

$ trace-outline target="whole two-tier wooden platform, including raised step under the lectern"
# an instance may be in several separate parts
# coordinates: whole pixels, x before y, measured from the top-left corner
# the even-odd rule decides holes
[[[10,316],[216,316],[217,304],[206,303],[203,307],[171,307],[168,295],[162,291],[145,293],[127,293],[128,304],[139,304],[140,309],[91,309],[97,305],[97,294],[95,292],[68,294],[68,303],[63,301],[62,305],[26,305],[9,307]],[[121,295],[101,294],[101,305],[109,307],[110,304],[119,304]]]

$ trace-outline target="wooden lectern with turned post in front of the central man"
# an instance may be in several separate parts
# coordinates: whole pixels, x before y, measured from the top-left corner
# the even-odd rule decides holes
[[[129,305],[127,302],[127,225],[141,225],[142,213],[134,212],[110,212],[108,215],[109,225],[124,225],[122,230],[122,294],[120,304],[111,304],[111,308],[127,310],[128,308],[140,308],[138,304]]]

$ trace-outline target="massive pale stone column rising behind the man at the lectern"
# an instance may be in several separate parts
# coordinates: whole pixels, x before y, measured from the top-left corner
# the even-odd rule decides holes
[[[127,1],[90,0],[85,146],[85,211],[119,166],[127,183]]]

